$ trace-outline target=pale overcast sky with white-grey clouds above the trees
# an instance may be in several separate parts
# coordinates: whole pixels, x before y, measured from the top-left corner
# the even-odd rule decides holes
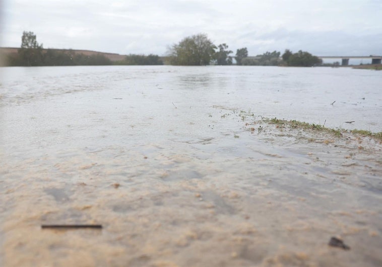
[[[44,48],[164,55],[206,33],[249,55],[382,54],[382,0],[0,0],[0,46],[32,31]]]

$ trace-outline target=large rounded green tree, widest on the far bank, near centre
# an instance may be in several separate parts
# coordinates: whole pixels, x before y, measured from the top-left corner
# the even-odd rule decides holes
[[[201,66],[209,65],[215,54],[216,46],[206,34],[186,37],[169,49],[172,65]]]

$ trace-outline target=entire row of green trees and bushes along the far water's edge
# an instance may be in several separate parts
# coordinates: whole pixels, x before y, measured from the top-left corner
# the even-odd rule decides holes
[[[75,66],[75,65],[163,65],[158,55],[130,54],[123,60],[111,61],[105,55],[85,55],[74,50],[43,49],[33,32],[23,32],[21,48],[18,53],[8,54],[8,66]],[[248,57],[246,47],[231,54],[227,44],[216,46],[206,34],[196,34],[182,39],[169,47],[167,58],[171,65],[237,65],[244,66],[317,66],[322,60],[305,51],[293,53],[289,49],[281,55],[278,51],[266,52],[255,57]]]

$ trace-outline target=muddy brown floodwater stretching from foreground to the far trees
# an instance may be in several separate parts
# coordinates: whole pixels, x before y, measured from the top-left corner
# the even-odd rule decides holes
[[[261,121],[382,131],[381,72],[0,71],[0,265],[382,265],[380,141]]]

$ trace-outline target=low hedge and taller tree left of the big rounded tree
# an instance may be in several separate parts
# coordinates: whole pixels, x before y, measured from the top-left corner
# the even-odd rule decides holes
[[[23,32],[17,54],[8,54],[7,66],[77,66],[77,65],[163,65],[158,55],[130,54],[120,61],[105,55],[85,55],[74,50],[43,49],[33,32]]]

